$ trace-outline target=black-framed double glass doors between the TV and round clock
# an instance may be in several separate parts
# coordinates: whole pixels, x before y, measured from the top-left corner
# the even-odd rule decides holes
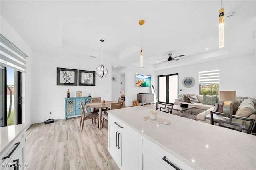
[[[158,102],[173,104],[178,97],[178,74],[158,76]]]

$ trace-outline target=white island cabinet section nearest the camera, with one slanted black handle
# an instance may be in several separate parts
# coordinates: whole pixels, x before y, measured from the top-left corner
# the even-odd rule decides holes
[[[139,135],[139,143],[142,142],[142,161],[139,162],[139,169],[145,170],[172,170],[172,169],[193,169],[184,162],[174,157],[166,150],[160,148],[147,138]]]

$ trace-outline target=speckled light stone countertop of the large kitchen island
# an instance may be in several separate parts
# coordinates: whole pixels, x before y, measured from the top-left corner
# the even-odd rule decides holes
[[[144,121],[150,111],[135,106],[108,113],[194,169],[256,169],[256,136],[162,111],[157,117],[169,125]]]

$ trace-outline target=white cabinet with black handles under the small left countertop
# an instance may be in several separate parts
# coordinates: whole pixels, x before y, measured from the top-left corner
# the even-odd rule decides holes
[[[25,131],[9,145],[1,154],[0,159],[3,170],[23,170],[27,167],[25,164]]]

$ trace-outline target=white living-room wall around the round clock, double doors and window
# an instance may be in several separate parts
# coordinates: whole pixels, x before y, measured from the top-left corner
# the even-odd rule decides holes
[[[255,54],[156,71],[156,79],[158,75],[178,73],[179,93],[199,94],[199,71],[215,69],[220,70],[220,90],[236,90],[237,96],[255,98]],[[187,76],[195,79],[193,87],[182,85],[182,80]]]

